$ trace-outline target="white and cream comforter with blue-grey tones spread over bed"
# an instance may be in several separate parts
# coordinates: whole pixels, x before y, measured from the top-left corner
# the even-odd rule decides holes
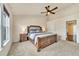
[[[36,44],[36,42],[38,41],[38,37],[46,37],[49,35],[53,35],[53,33],[48,33],[48,32],[44,32],[44,33],[30,33],[28,36],[34,40],[34,44]]]

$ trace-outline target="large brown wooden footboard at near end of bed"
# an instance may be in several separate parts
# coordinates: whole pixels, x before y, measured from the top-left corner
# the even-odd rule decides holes
[[[45,48],[46,46],[49,46],[55,42],[57,42],[57,34],[42,38],[38,37],[38,42],[36,43],[37,51],[40,51],[40,49]]]

